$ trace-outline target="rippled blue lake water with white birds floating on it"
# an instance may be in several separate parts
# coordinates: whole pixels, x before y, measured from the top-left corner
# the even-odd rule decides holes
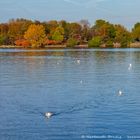
[[[140,49],[0,49],[0,140],[97,137],[140,139]]]

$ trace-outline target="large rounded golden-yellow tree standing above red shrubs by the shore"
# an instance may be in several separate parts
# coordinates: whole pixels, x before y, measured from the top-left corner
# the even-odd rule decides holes
[[[43,45],[46,34],[43,25],[32,24],[24,34],[24,38],[29,41],[33,48],[38,48]]]

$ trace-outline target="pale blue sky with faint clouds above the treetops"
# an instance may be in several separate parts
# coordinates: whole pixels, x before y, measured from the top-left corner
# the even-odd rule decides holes
[[[140,0],[0,0],[0,22],[12,18],[32,20],[97,19],[132,28],[140,21]]]

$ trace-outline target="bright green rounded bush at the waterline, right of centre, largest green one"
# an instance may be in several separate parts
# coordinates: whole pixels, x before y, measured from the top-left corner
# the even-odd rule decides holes
[[[90,40],[89,42],[88,42],[88,46],[90,47],[90,48],[92,48],[92,47],[100,47],[100,45],[101,45],[101,37],[94,37],[94,38],[92,38],[92,40]]]

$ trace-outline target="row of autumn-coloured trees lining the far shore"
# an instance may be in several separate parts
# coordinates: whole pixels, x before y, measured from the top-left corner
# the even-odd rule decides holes
[[[140,23],[131,31],[103,19],[47,22],[12,19],[0,24],[0,48],[124,48],[140,47]]]

